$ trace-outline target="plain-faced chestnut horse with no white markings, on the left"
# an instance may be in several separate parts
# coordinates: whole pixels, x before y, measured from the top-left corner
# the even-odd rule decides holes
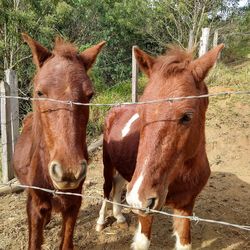
[[[34,97],[89,102],[93,87],[87,71],[105,42],[78,53],[72,44],[58,38],[50,52],[27,34],[23,34],[23,39],[31,48],[37,68]],[[19,181],[25,185],[80,194],[87,171],[89,108],[43,100],[33,101],[33,110],[23,122],[13,156]],[[50,221],[52,210],[62,213],[60,249],[73,249],[81,197],[53,196],[34,189],[27,192],[29,249],[41,249],[43,228]]]

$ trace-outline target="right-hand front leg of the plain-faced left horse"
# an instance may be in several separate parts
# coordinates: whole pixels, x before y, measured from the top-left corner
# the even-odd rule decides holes
[[[70,206],[66,211],[62,212],[63,226],[62,226],[62,241],[60,250],[74,249],[73,235],[76,224],[77,215],[81,207],[81,197],[77,197],[74,201],[74,206]],[[73,203],[73,202],[72,202]]]

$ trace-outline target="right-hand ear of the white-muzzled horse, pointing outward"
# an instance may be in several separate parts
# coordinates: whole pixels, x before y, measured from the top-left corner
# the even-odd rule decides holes
[[[190,63],[190,69],[197,82],[204,80],[209,70],[214,66],[221,50],[224,48],[224,44],[220,44],[217,47],[211,49],[202,57],[192,61]]]

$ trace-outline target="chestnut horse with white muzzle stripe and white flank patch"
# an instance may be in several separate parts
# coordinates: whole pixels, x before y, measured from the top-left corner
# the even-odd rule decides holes
[[[135,56],[149,82],[140,101],[207,94],[204,83],[224,45],[193,60],[185,51],[172,48],[154,58],[140,49]],[[113,108],[105,121],[103,163],[104,197],[136,207],[139,227],[132,248],[148,249],[153,215],[145,209],[171,207],[175,215],[192,215],[196,196],[210,175],[205,150],[205,113],[208,98],[183,99]],[[97,221],[105,224],[106,201]],[[113,205],[117,223],[124,223],[121,207]],[[174,218],[176,249],[191,249],[190,220]]]

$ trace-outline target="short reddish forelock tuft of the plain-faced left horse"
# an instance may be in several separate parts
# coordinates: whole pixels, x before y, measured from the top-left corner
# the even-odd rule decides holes
[[[52,53],[69,60],[74,60],[78,55],[78,50],[74,44],[66,42],[62,38],[57,37]]]

